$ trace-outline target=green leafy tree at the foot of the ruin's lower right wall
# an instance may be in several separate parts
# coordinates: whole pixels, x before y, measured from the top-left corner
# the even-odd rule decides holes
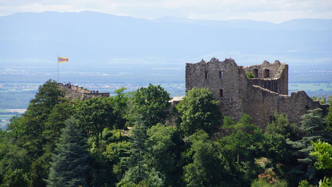
[[[276,111],[274,117],[276,120],[266,126],[266,134],[281,134],[285,136],[285,138],[293,141],[298,139],[298,127],[294,123],[290,124],[287,115],[284,116],[282,113],[278,114]]]

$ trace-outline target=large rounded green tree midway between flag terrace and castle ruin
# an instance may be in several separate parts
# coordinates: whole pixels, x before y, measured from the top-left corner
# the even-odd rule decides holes
[[[161,123],[167,117],[169,100],[169,93],[160,85],[149,84],[146,88],[141,87],[132,92],[128,118],[134,122],[139,116],[149,127]]]

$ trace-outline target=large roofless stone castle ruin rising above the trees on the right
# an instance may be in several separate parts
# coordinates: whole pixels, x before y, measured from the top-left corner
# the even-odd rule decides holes
[[[246,71],[256,77],[248,79]],[[224,116],[238,120],[246,113],[263,129],[275,111],[288,115],[291,123],[299,123],[308,110],[321,108],[327,114],[328,105],[313,101],[304,91],[288,95],[288,65],[278,60],[246,67],[231,58],[186,63],[186,92],[193,87],[209,88]]]

